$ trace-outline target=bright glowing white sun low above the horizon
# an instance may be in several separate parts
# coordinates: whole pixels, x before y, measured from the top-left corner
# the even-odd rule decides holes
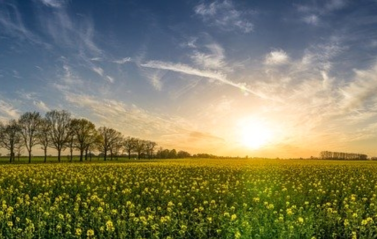
[[[259,149],[271,140],[272,132],[259,120],[242,120],[239,125],[241,143],[251,149]]]

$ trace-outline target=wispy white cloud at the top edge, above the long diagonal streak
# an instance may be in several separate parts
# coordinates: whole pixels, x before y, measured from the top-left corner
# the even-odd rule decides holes
[[[194,8],[194,11],[205,22],[224,30],[238,29],[244,33],[253,30],[253,24],[246,19],[242,11],[236,9],[231,0],[201,3]]]

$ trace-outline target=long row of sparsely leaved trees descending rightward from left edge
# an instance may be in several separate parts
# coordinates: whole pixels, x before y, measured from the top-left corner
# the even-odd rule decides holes
[[[42,116],[39,112],[26,112],[19,119],[10,119],[7,123],[0,121],[0,148],[9,151],[9,162],[15,160],[15,153],[26,149],[28,162],[31,162],[32,149],[40,145],[44,151],[44,161],[47,161],[47,149],[57,151],[60,162],[62,152],[70,151],[70,161],[73,151],[80,153],[80,161],[92,157],[93,151],[99,151],[104,160],[118,158],[126,154],[128,159],[136,155],[141,158],[186,158],[191,155],[185,151],[177,152],[160,147],[157,143],[135,137],[124,137],[118,130],[101,126],[96,128],[88,119],[75,119],[66,110],[51,110]]]

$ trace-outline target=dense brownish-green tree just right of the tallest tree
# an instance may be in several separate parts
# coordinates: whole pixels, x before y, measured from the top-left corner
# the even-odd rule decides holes
[[[71,131],[75,147],[80,151],[80,161],[83,160],[84,151],[89,150],[89,144],[95,137],[95,125],[88,119],[72,119]]]

